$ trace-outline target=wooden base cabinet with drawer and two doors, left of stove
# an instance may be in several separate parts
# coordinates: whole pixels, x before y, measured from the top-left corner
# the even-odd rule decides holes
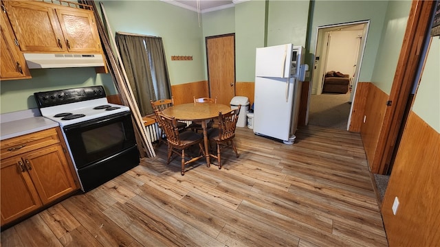
[[[9,143],[14,144],[9,150],[18,148],[19,151],[21,146],[28,144],[38,147],[36,143],[47,141],[47,135],[57,132],[55,129],[48,131],[8,139],[7,143],[2,141],[1,150]],[[59,143],[1,160],[1,226],[79,189],[72,162],[64,150],[65,144],[59,139]]]

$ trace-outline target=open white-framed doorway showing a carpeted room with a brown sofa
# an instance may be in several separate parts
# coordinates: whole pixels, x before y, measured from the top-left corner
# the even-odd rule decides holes
[[[349,130],[368,27],[369,21],[318,27],[307,125]],[[331,76],[332,71],[338,72],[335,77],[349,77],[342,86],[347,93],[323,91],[326,74]]]

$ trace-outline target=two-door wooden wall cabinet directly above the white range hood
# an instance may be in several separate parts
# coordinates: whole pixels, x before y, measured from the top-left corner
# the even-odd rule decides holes
[[[100,53],[94,12],[39,1],[3,1],[23,52]]]

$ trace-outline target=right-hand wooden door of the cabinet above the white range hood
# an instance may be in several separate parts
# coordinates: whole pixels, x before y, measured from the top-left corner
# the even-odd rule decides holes
[[[57,8],[56,14],[69,51],[100,52],[100,39],[94,12],[74,8]]]

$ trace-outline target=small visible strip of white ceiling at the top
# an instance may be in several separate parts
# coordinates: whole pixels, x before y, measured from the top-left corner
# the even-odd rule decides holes
[[[206,13],[212,12],[216,10],[223,10],[225,8],[234,7],[236,0],[160,0],[166,3],[170,3],[181,8],[186,8],[187,10],[192,10],[195,12]],[[240,0],[239,0],[240,1]],[[243,0],[241,0],[243,1]],[[197,3],[199,3],[199,7],[197,8]]]

